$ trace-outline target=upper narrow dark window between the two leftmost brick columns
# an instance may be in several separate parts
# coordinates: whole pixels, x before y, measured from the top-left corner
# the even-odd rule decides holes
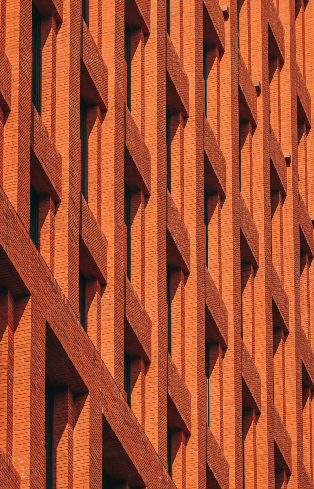
[[[32,12],[32,56],[32,102],[37,112],[40,114],[42,78],[41,16],[34,4]]]

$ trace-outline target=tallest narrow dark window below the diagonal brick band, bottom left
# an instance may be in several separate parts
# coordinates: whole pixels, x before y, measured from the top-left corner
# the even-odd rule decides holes
[[[45,451],[46,489],[53,489],[53,432],[54,432],[54,391],[48,380],[45,385]]]

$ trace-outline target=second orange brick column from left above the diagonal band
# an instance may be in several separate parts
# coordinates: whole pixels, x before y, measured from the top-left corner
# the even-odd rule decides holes
[[[56,144],[62,156],[62,201],[55,219],[55,277],[79,313],[81,3],[63,1],[57,36]]]

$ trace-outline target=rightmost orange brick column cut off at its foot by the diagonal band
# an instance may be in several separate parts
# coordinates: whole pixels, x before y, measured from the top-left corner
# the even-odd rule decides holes
[[[145,46],[145,139],[151,154],[145,305],[152,320],[152,361],[146,376],[146,433],[167,467],[166,2],[152,0],[150,8],[150,35]]]

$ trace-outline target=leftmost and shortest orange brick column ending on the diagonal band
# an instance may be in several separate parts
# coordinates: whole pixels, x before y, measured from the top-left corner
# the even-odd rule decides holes
[[[1,5],[2,11],[2,5]],[[6,2],[6,54],[12,65],[11,111],[4,126],[3,189],[29,228],[32,3]],[[19,128],[19,130],[18,130]]]

